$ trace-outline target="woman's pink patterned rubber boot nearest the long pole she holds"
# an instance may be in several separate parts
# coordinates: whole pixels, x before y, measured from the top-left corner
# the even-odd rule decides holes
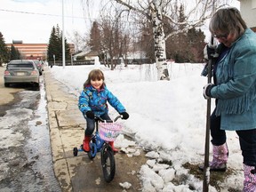
[[[211,172],[226,172],[228,162],[228,146],[224,143],[220,146],[212,145],[212,162],[209,164]],[[204,164],[199,165],[199,169],[204,171]]]

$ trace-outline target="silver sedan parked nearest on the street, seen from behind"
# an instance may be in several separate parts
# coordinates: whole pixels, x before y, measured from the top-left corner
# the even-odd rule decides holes
[[[39,88],[39,71],[33,60],[11,60],[4,71],[4,86],[33,84]]]

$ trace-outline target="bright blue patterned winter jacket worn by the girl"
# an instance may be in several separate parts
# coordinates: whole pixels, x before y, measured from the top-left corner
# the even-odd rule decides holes
[[[108,91],[106,85],[99,91],[94,89],[92,85],[86,86],[79,97],[78,108],[83,114],[87,111],[93,111],[95,116],[102,116],[108,113],[107,101],[119,114],[125,112],[122,103],[112,92]]]

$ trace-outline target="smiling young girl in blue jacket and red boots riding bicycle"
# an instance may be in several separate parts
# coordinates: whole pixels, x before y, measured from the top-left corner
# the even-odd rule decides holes
[[[100,69],[93,69],[89,73],[84,83],[84,90],[79,97],[78,108],[83,113],[87,123],[83,141],[83,148],[86,152],[90,151],[89,143],[95,129],[94,116],[100,116],[104,120],[110,120],[107,101],[123,116],[123,119],[129,118],[129,114],[126,113],[122,103],[112,92],[108,91],[104,79],[104,74]],[[115,152],[118,151],[114,148],[114,141],[109,142],[109,144]]]

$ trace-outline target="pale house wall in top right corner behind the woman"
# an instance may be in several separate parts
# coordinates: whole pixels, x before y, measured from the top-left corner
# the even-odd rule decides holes
[[[240,12],[248,28],[256,32],[256,0],[238,0]]]

